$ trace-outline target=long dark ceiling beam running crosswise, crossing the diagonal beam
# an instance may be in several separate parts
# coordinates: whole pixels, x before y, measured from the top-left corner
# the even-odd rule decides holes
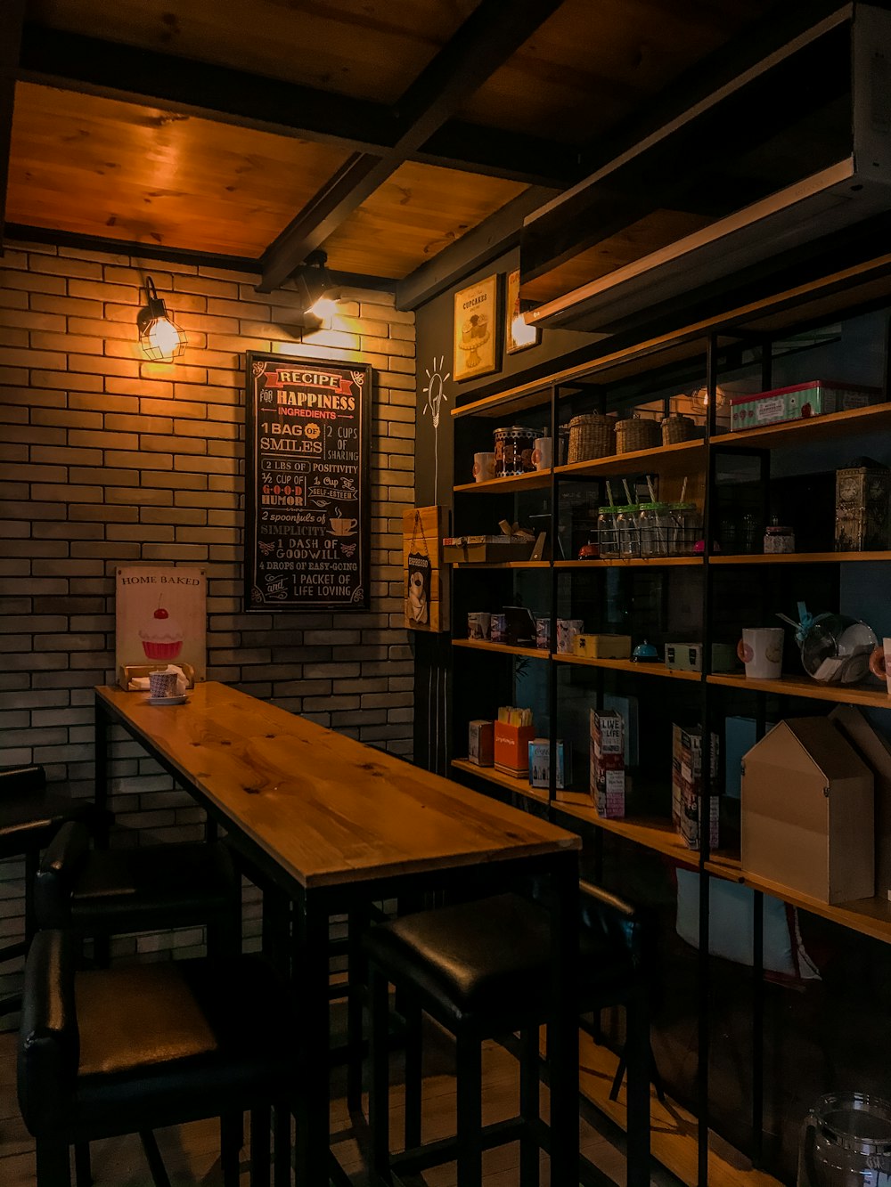
[[[177,115],[316,140],[348,152],[385,155],[400,133],[392,107],[385,103],[68,33],[34,21],[25,23],[19,77]],[[565,184],[565,154],[538,138],[505,135],[469,125],[443,132],[449,134],[431,147],[430,164],[507,177],[527,185],[539,180]]]

